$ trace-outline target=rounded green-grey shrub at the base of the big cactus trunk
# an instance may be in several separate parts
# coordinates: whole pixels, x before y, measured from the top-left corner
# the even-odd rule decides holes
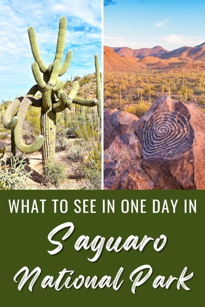
[[[53,163],[47,161],[44,168],[44,185],[55,185],[57,189],[60,189],[60,185],[66,178],[65,166],[60,162]]]

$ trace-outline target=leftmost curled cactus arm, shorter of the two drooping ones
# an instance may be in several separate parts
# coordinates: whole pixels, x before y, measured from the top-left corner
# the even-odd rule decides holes
[[[16,109],[19,107],[23,98],[24,97],[19,97],[15,99],[12,103],[10,103],[10,105],[6,109],[6,113],[3,117],[3,123],[6,129],[13,129],[17,125],[18,117],[17,116],[12,117],[12,116],[16,111]]]

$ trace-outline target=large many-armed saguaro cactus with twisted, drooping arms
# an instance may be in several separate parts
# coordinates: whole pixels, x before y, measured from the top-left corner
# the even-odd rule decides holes
[[[4,116],[4,126],[8,129],[13,129],[14,141],[20,151],[23,153],[33,153],[43,146],[43,167],[46,160],[49,159],[54,162],[55,158],[56,113],[70,108],[72,103],[89,107],[93,107],[98,103],[97,99],[88,100],[76,97],[78,90],[77,81],[73,82],[73,87],[68,96],[62,90],[64,82],[59,81],[58,77],[67,71],[72,57],[72,51],[69,50],[65,62],[61,65],[65,46],[66,24],[66,17],[62,16],[59,22],[56,55],[53,63],[49,64],[48,67],[41,59],[34,28],[32,26],[29,27],[29,40],[35,59],[35,62],[32,64],[32,72],[37,84],[31,87],[26,96],[15,99],[7,108]],[[41,73],[43,73],[43,77]],[[34,97],[37,91],[41,92],[41,98]],[[41,107],[41,135],[35,139],[33,144],[25,145],[22,138],[22,130],[26,111],[30,105]],[[17,115],[13,116],[17,108]]]

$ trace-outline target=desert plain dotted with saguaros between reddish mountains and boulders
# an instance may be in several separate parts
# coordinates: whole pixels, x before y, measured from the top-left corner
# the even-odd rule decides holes
[[[118,109],[141,117],[164,95],[196,104],[205,113],[205,70],[175,66],[136,72],[104,72],[104,108]]]

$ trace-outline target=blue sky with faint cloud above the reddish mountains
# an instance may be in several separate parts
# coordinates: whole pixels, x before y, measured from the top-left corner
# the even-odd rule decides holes
[[[104,0],[104,45],[173,50],[204,41],[204,0]]]

